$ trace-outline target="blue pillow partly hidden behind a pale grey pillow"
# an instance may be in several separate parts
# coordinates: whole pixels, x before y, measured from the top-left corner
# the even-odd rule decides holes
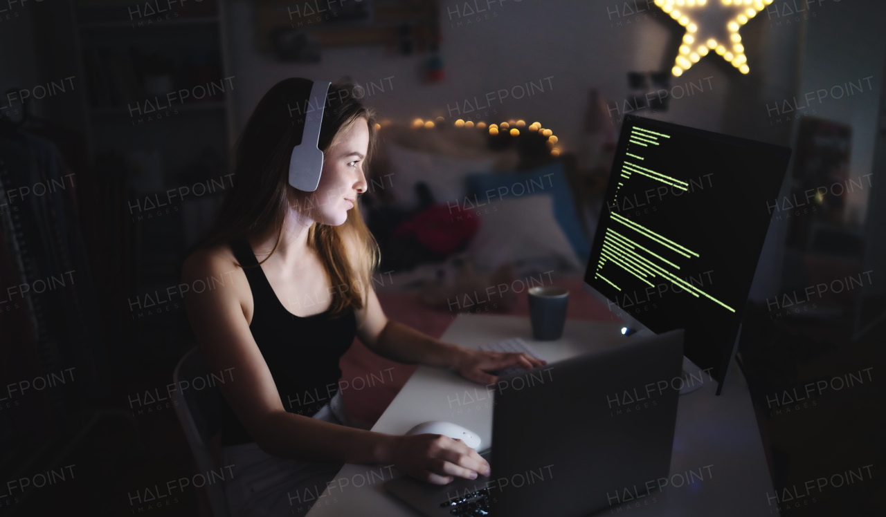
[[[542,166],[532,171],[495,174],[470,174],[468,176],[470,197],[464,204],[501,202],[511,197],[527,197],[551,194],[554,197],[553,213],[563,228],[572,249],[582,261],[591,254],[591,244],[581,229],[579,214],[572,203],[572,193],[566,180],[562,162]],[[470,208],[470,206],[469,206]]]

